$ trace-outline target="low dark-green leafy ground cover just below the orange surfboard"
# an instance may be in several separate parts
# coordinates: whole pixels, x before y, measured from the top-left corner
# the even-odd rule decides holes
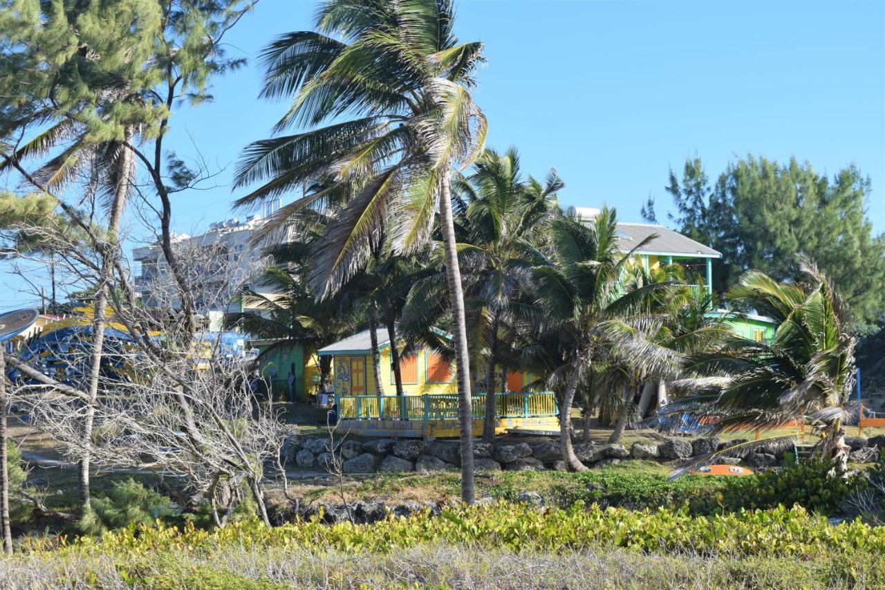
[[[554,485],[553,501],[566,507],[575,501],[624,508],[686,506],[689,513],[708,515],[742,508],[774,508],[798,504],[832,514],[862,485],[859,477],[830,475],[826,462],[802,462],[779,471],[743,477],[666,477],[612,471],[585,471]]]

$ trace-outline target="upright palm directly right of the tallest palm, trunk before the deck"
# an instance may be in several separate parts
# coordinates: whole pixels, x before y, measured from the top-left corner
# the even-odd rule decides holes
[[[505,348],[512,345],[503,338],[504,323],[511,304],[531,289],[531,269],[541,258],[536,246],[560,214],[556,191],[563,186],[555,172],[543,185],[534,178],[523,181],[515,148],[503,154],[486,150],[473,174],[458,175],[453,185],[461,210],[458,257],[466,275],[469,323],[480,336],[474,344],[484,343],[486,350],[485,442],[495,437],[496,367],[504,368]],[[473,358],[478,356],[474,352]]]

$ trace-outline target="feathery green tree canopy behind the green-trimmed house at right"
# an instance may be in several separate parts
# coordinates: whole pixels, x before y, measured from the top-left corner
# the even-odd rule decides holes
[[[799,255],[815,260],[852,308],[870,321],[885,312],[885,236],[866,218],[870,181],[857,167],[832,178],[808,162],[780,164],[747,156],[712,183],[701,159],[689,159],[666,187],[677,229],[722,252],[713,288],[725,292],[747,270],[779,281],[800,276]]]

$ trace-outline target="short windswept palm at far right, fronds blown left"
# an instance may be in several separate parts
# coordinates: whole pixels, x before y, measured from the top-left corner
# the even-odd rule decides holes
[[[826,276],[808,261],[801,268],[805,279],[801,283],[778,283],[750,270],[728,291],[735,306],[777,322],[773,341],[734,337],[719,352],[691,356],[686,369],[698,377],[681,383],[695,391],[683,400],[681,409],[689,406],[699,415],[715,417],[713,431],[766,430],[804,420],[820,434],[815,452],[844,470],[849,447],[843,418],[855,377],[850,314]],[[712,462],[730,450],[705,456],[685,469]]]

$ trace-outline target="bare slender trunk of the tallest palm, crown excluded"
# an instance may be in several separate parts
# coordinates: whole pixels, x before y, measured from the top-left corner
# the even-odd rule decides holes
[[[464,316],[464,291],[461,269],[455,249],[455,221],[451,215],[449,167],[443,170],[440,187],[440,218],[445,243],[445,274],[455,331],[455,361],[458,363],[458,421],[461,427],[461,500],[473,504],[473,400],[470,394],[470,361],[467,350],[467,322]]]

